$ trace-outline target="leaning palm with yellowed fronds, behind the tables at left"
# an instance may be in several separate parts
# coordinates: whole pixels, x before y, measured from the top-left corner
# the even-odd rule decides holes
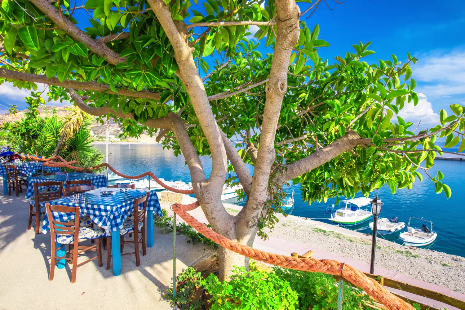
[[[69,113],[61,119],[62,126],[60,131],[60,139],[58,139],[57,146],[55,151],[53,151],[52,157],[58,155],[60,147],[66,147],[68,140],[72,139],[76,133],[90,125],[92,119],[89,114],[82,111],[77,106],[73,106],[72,108],[65,110],[69,111]]]

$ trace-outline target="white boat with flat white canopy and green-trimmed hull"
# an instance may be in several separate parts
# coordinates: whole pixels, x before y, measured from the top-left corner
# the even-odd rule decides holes
[[[328,218],[334,224],[356,225],[372,218],[371,198],[359,197],[342,202],[345,203],[345,208],[332,212],[331,218]]]

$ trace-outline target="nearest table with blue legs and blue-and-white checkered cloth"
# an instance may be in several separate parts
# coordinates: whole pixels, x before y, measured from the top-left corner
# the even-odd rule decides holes
[[[111,196],[102,196],[102,191],[113,191]],[[121,273],[120,229],[123,223],[134,212],[134,200],[142,198],[150,192],[147,201],[147,245],[153,246],[153,211],[163,216],[157,192],[143,189],[99,188],[68,197],[52,200],[50,204],[60,204],[68,207],[80,207],[80,216],[88,215],[93,223],[106,232],[112,233],[113,274]],[[142,204],[141,204],[142,205]],[[52,212],[53,220],[65,222],[75,217],[74,213]],[[45,217],[42,232],[50,229],[49,218]],[[144,228],[145,229],[145,228]],[[59,245],[57,244],[57,249]],[[57,256],[64,256],[64,250],[58,250]],[[58,268],[64,268],[65,260],[60,260]]]

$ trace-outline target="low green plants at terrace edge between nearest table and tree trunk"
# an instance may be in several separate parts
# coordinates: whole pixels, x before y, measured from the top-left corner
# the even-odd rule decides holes
[[[157,225],[158,227],[164,228],[164,233],[166,234],[172,233],[173,232],[173,217],[168,216],[168,212],[166,212],[165,209],[162,209],[161,211],[163,212],[163,217],[159,217],[158,215],[154,214],[153,223]],[[211,227],[209,224],[205,224],[205,225],[208,228]],[[190,243],[191,241],[192,241],[192,244],[201,242],[203,244],[213,246],[213,248],[215,249],[218,249],[218,244],[208,239],[201,233],[197,232],[195,229],[193,229],[190,225],[186,223],[176,224],[176,230],[179,233],[190,238],[189,240],[187,240],[187,243]]]

